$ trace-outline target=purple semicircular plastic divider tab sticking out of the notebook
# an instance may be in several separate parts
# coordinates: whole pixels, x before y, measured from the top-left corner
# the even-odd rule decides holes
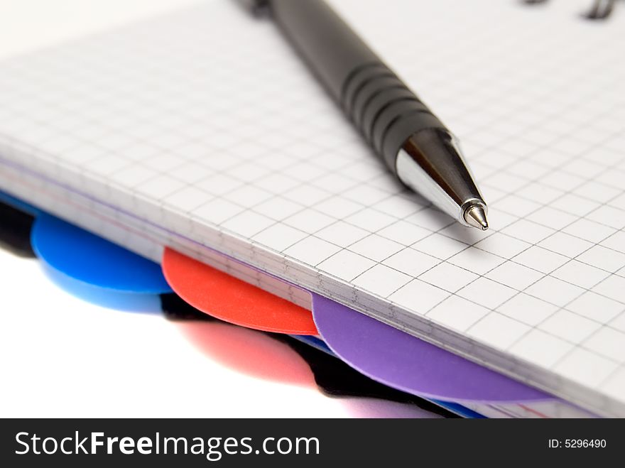
[[[312,315],[335,354],[388,386],[439,400],[522,402],[553,398],[314,293]]]

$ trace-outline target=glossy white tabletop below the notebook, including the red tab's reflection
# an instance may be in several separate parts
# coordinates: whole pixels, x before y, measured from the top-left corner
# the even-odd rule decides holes
[[[207,324],[213,340],[204,345],[212,348],[207,356],[197,347],[202,333],[193,332],[193,342],[161,315],[87,303],[58,288],[38,261],[4,250],[0,285],[4,418],[433,417],[400,403],[328,398],[297,354],[273,340],[245,339],[249,330],[224,325],[233,330],[224,335],[215,331],[219,324]],[[219,349],[219,342],[241,338],[246,351],[258,349],[265,364],[271,359],[278,368],[254,367],[250,359],[246,371],[240,365],[246,354]]]

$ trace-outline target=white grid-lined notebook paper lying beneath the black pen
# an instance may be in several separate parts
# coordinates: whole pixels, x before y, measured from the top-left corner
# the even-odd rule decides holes
[[[624,20],[582,6],[337,4],[460,137],[483,234],[404,191],[275,26],[231,2],[5,62],[1,187],[37,203],[15,173],[53,183],[625,415]]]

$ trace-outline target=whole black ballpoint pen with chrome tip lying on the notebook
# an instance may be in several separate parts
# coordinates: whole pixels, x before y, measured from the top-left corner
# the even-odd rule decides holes
[[[462,224],[487,205],[456,138],[323,0],[244,0],[268,12],[399,180]]]

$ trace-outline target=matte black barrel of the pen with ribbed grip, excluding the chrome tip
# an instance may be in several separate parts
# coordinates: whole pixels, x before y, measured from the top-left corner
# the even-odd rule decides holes
[[[322,0],[271,0],[273,18],[327,92],[396,173],[408,138],[442,122]]]

